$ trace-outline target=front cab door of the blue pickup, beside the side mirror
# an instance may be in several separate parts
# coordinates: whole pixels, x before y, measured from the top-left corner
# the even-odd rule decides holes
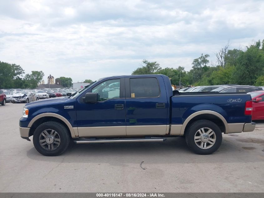
[[[84,103],[86,93],[98,93],[99,101]],[[79,137],[126,136],[125,79],[101,81],[76,101]]]

